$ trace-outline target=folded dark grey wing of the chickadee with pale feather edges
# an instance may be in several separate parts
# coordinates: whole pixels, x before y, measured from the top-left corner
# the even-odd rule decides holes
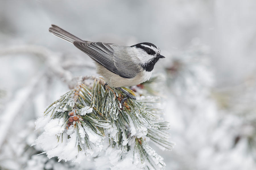
[[[74,41],[73,44],[112,73],[123,78],[133,78],[137,75],[137,72],[134,71],[137,69],[129,67],[129,65],[131,65],[131,61],[126,65],[121,63],[121,59],[119,57],[114,56],[114,50],[111,47],[112,44],[104,42],[84,43],[81,41]],[[127,67],[129,68],[127,69]],[[135,67],[134,64],[133,67]],[[131,73],[129,70],[132,70],[133,72]]]

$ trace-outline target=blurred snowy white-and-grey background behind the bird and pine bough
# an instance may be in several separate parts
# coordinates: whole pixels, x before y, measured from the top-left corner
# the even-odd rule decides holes
[[[157,150],[166,169],[256,169],[255,9],[254,0],[1,0],[0,169],[94,169],[30,147],[34,121],[67,82],[96,75],[51,24],[88,41],[160,48],[156,88],[176,143]]]

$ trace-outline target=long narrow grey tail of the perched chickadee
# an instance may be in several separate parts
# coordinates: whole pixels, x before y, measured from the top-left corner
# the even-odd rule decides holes
[[[75,35],[65,31],[64,29],[58,27],[57,25],[52,24],[51,27],[49,28],[49,32],[65,41],[72,43],[72,44],[74,41],[86,42],[86,41],[76,37]]]

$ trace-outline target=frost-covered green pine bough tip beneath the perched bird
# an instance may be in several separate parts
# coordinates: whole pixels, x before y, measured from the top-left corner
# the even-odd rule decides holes
[[[35,144],[59,161],[104,158],[111,169],[164,169],[163,158],[148,145],[152,141],[163,150],[174,145],[168,140],[168,122],[160,121],[159,98],[128,99],[122,107],[124,96],[118,89],[105,90],[100,78],[79,78],[73,90],[38,118],[36,129],[43,127],[44,132]]]

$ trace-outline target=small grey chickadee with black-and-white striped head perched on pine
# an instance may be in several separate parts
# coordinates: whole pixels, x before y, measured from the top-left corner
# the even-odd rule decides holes
[[[159,48],[150,42],[122,46],[85,41],[54,24],[49,28],[49,32],[74,44],[95,61],[96,72],[104,78],[106,84],[126,94],[121,105],[128,98],[136,99],[121,87],[135,86],[149,80],[154,65],[159,59],[165,58],[160,55]]]

